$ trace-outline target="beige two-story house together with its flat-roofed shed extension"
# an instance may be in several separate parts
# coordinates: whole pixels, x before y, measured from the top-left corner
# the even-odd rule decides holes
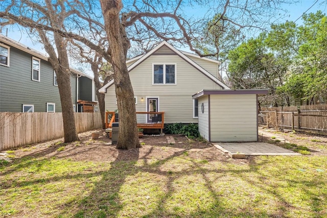
[[[208,141],[258,140],[258,94],[268,91],[230,90],[222,82],[218,61],[179,51],[164,41],[128,60],[127,66],[136,112],[164,112],[165,124],[198,123]],[[105,93],[106,110],[114,111],[113,81],[99,91]],[[160,123],[160,116],[146,114],[138,125],[152,128]]]

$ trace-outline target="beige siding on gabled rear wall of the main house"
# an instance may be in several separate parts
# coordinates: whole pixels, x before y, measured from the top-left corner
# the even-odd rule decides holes
[[[176,85],[152,85],[153,63],[176,64]],[[222,89],[178,55],[150,56],[130,71],[130,79],[138,101],[136,111],[146,111],[147,96],[158,96],[165,123],[198,123],[198,119],[193,118],[192,95],[202,89]],[[116,109],[114,85],[107,88],[105,101],[106,110]]]

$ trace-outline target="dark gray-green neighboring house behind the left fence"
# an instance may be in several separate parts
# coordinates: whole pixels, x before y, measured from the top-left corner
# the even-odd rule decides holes
[[[76,112],[83,112],[86,105],[97,111],[91,77],[72,69],[71,86]],[[56,74],[48,57],[1,34],[0,112],[61,112]]]

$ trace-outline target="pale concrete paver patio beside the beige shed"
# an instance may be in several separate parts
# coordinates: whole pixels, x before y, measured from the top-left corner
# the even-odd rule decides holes
[[[266,142],[243,142],[243,143],[228,143],[217,142],[214,146],[224,153],[232,154],[244,154],[244,155],[301,155],[299,153],[283,149],[274,144]]]

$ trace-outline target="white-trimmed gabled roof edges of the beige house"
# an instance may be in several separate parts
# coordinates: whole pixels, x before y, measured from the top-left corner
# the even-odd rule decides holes
[[[202,68],[200,65],[198,65],[197,63],[195,63],[193,60],[191,60],[189,57],[187,57],[186,55],[190,55],[191,53],[187,53],[186,52],[181,52],[177,49],[175,49],[175,47],[173,47],[171,44],[169,44],[166,41],[161,42],[158,46],[156,46],[153,50],[151,50],[150,52],[148,52],[145,55],[141,55],[141,56],[137,56],[135,58],[132,58],[130,60],[127,61],[135,61],[133,64],[131,64],[127,69],[128,71],[131,71],[132,69],[134,69],[137,65],[139,65],[140,63],[142,63],[143,61],[145,61],[148,57],[150,57],[153,53],[155,53],[156,51],[158,51],[162,46],[167,46],[170,50],[172,50],[174,53],[176,53],[176,55],[178,55],[179,57],[181,57],[184,61],[188,62],[189,64],[191,64],[193,67],[195,67],[196,69],[198,69],[200,72],[202,72],[202,74],[204,74],[206,77],[208,77],[209,79],[211,79],[212,81],[214,81],[215,83],[217,83],[219,86],[221,86],[223,89],[230,89],[228,86],[226,86],[223,82],[221,82],[220,80],[218,80],[216,77],[214,77],[212,74],[210,74],[208,71],[206,71],[204,68]],[[195,57],[199,57],[197,55],[192,54],[192,56]],[[214,61],[216,63],[219,63],[216,60],[212,60],[209,58],[203,58],[205,60],[209,60],[209,61]],[[111,80],[109,83],[107,83],[106,85],[104,85],[101,89],[99,89],[99,92],[105,93],[106,89],[111,86],[113,84],[113,80]]]

